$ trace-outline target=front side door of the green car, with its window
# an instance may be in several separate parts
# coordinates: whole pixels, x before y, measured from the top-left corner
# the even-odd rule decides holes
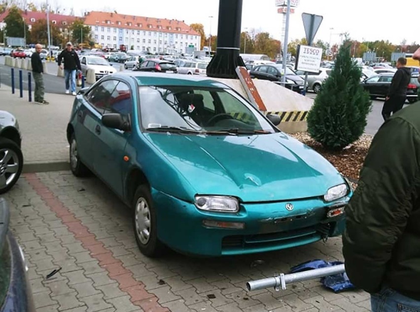
[[[130,87],[123,81],[115,79],[109,81],[114,89],[106,102],[105,113],[118,113],[130,120],[134,105]],[[118,195],[123,196],[124,151],[131,132],[107,128],[102,124],[102,120],[98,122],[98,125],[99,132],[96,132],[98,152],[95,166],[109,187]]]

